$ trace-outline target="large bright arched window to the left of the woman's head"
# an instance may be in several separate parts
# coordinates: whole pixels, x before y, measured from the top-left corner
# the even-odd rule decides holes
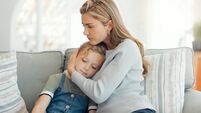
[[[15,20],[17,50],[65,50],[78,47],[87,40],[82,33],[79,15],[81,4],[80,0],[19,2]]]

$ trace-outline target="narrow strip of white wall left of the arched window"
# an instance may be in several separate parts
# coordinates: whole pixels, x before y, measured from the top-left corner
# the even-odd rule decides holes
[[[0,0],[0,50],[10,50],[11,19],[17,0]]]

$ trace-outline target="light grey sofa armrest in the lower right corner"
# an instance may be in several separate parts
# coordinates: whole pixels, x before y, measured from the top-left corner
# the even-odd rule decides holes
[[[201,113],[201,92],[193,89],[185,91],[183,113]]]

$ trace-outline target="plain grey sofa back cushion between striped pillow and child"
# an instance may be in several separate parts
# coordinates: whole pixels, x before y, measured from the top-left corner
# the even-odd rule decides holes
[[[48,77],[61,70],[63,60],[59,51],[17,52],[18,86],[29,112]]]

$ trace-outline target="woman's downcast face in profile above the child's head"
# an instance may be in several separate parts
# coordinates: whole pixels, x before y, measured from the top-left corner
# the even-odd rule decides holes
[[[104,42],[110,31],[109,24],[104,25],[88,13],[82,15],[82,24],[84,26],[84,35],[87,36],[92,45]]]

